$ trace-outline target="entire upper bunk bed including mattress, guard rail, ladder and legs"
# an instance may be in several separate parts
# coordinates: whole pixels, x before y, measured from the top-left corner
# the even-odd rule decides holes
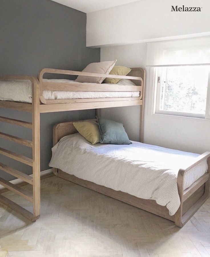
[[[66,79],[45,79],[43,75],[46,73],[61,74],[61,76],[81,75],[118,78],[120,80],[125,79],[129,83],[122,85],[76,83]],[[145,71],[142,68],[132,68],[127,76],[47,68],[41,70],[38,78],[33,76],[0,76],[0,108],[31,112],[32,114],[32,122],[1,116],[0,122],[31,129],[32,141],[1,131],[0,139],[31,147],[32,158],[10,151],[7,149],[7,146],[6,149],[0,147],[0,155],[32,167],[33,176],[26,175],[4,163],[0,163],[0,170],[31,184],[33,186],[33,193],[27,192],[2,178],[0,178],[0,185],[31,201],[33,203],[33,211],[28,211],[4,197],[1,194],[2,191],[0,191],[0,202],[31,221],[37,220],[40,216],[40,113],[140,105],[142,106],[142,124],[144,80]],[[140,140],[142,137],[143,129],[141,129]]]

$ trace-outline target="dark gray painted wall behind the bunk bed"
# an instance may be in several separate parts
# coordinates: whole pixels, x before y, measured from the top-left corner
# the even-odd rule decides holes
[[[50,0],[0,1],[0,74],[33,75],[42,68],[82,70],[100,61],[100,49],[86,48],[86,14]],[[31,121],[31,114],[0,109],[0,116]],[[95,110],[41,114],[41,170],[49,169],[53,125],[94,118]],[[31,139],[31,130],[0,122],[4,133]],[[1,147],[31,157],[31,149],[0,140]],[[0,161],[27,174],[24,164],[0,155]],[[0,177],[14,177],[0,171]]]

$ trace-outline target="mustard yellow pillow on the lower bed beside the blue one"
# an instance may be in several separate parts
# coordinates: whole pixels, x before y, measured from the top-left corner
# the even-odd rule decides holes
[[[93,145],[101,140],[98,123],[94,121],[73,122],[74,128]]]

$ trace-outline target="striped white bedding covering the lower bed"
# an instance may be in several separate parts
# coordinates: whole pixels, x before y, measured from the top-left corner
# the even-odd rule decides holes
[[[153,199],[173,215],[179,208],[177,174],[198,156],[132,141],[131,145],[92,145],[79,133],[52,148],[50,167],[143,199]],[[184,189],[207,171],[203,161],[186,173]]]

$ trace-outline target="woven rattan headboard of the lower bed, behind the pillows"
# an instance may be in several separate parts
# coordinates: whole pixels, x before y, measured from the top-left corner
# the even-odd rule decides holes
[[[81,120],[81,121],[90,121],[90,120]],[[97,119],[92,119],[91,121],[97,121]],[[58,141],[64,136],[77,133],[77,130],[74,128],[73,122],[78,122],[78,121],[63,122],[63,123],[58,123],[54,125],[53,145],[58,143]]]

